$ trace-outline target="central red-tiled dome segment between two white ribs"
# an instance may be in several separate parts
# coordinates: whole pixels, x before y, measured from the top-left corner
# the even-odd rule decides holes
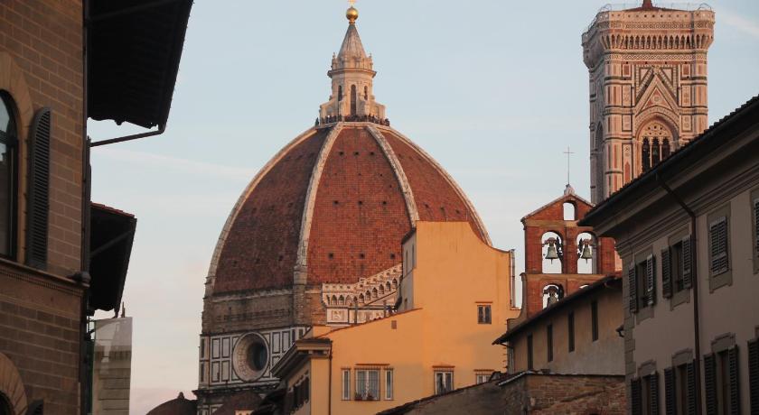
[[[410,229],[408,210],[392,167],[379,152],[363,125],[347,124],[335,138],[314,198],[309,285],[353,283],[398,263],[389,253],[398,251]]]

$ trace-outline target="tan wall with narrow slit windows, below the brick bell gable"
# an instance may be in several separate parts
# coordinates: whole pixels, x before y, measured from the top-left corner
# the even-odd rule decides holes
[[[591,302],[598,301],[598,339],[593,341]],[[532,334],[533,370],[548,369],[553,374],[624,374],[623,338],[616,333],[623,322],[622,291],[604,289],[554,314],[536,320],[520,332],[513,347],[514,367],[519,373],[527,367],[527,337]],[[575,313],[575,351],[569,352],[568,315]],[[553,325],[553,361],[548,362],[547,328]]]

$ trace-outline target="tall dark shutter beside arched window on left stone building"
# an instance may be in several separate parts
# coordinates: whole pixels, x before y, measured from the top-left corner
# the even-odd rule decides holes
[[[42,270],[47,268],[51,127],[51,110],[42,108],[34,115],[29,135],[26,264]]]

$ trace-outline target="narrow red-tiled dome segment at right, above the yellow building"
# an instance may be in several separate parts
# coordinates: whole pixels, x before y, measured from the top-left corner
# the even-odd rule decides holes
[[[431,157],[395,130],[380,128],[408,176],[420,220],[469,222],[486,244],[490,243],[480,217],[454,180]]]

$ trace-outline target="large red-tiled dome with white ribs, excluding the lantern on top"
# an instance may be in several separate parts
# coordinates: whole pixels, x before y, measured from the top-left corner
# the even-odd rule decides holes
[[[211,261],[212,293],[353,283],[401,262],[417,220],[468,221],[490,244],[454,180],[388,126],[338,123],[301,134],[232,209]]]

